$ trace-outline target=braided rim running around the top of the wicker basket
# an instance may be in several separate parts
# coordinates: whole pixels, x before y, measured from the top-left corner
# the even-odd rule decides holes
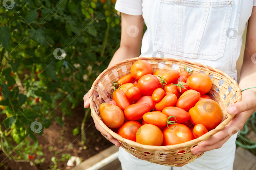
[[[90,103],[90,108],[91,108],[91,112],[95,118],[95,120],[100,124],[100,126],[109,134],[111,134],[113,136],[113,138],[117,139],[119,142],[124,142],[126,144],[129,144],[130,147],[136,147],[136,148],[142,148],[142,149],[146,149],[146,150],[150,150],[150,151],[155,151],[155,150],[178,150],[181,148],[186,148],[186,147],[191,147],[194,145],[197,145],[198,143],[209,139],[212,135],[214,135],[215,133],[219,132],[220,130],[222,130],[232,119],[235,115],[229,115],[224,121],[222,121],[215,129],[210,130],[208,133],[205,133],[204,135],[200,136],[197,139],[193,139],[181,144],[174,144],[174,145],[166,145],[166,146],[153,146],[153,145],[144,145],[144,144],[139,144],[137,142],[134,142],[132,140],[129,139],[124,139],[122,138],[119,134],[113,132],[109,127],[107,127],[107,125],[105,125],[102,121],[100,116],[98,116],[97,112],[94,110],[94,105],[93,105],[93,95],[94,92],[96,91],[96,86],[97,84],[100,82],[101,78],[104,77],[109,71],[112,71],[113,69],[115,69],[116,67],[120,67],[122,65],[125,65],[128,62],[135,62],[137,60],[148,60],[148,61],[174,61],[174,62],[180,62],[180,63],[184,63],[184,64],[188,64],[188,65],[197,65],[199,67],[203,67],[206,70],[210,70],[210,71],[214,71],[215,73],[218,73],[222,76],[225,76],[227,79],[229,79],[236,88],[237,91],[237,101],[241,101],[241,89],[238,85],[238,83],[228,74],[226,74],[225,72],[210,67],[208,65],[204,65],[204,64],[200,64],[197,62],[193,62],[193,61],[187,61],[187,60],[183,60],[183,59],[174,59],[174,58],[156,58],[156,57],[136,57],[136,58],[131,58],[131,59],[125,59],[123,61],[118,62],[117,64],[114,64],[112,66],[110,66],[109,68],[107,68],[106,70],[104,70],[98,77],[97,79],[94,81],[91,89],[90,89],[90,93],[89,93],[89,103]],[[224,108],[226,109],[226,107]]]

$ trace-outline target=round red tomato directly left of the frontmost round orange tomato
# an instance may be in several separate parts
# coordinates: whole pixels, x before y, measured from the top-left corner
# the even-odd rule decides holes
[[[125,139],[133,140],[136,142],[136,132],[141,124],[136,121],[125,122],[121,127],[119,127],[117,134]]]

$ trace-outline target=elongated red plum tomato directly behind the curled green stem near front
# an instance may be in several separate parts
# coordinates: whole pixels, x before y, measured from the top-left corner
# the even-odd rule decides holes
[[[167,117],[175,116],[177,121],[175,121],[174,117],[169,119],[169,121],[175,121],[175,123],[183,123],[188,121],[190,118],[188,112],[179,107],[173,107],[173,106],[165,107],[162,110],[162,113],[165,114]]]

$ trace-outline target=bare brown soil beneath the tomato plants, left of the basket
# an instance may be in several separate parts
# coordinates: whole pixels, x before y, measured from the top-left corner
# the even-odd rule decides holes
[[[85,133],[86,133],[86,143],[81,144],[81,128],[80,133],[76,136],[73,135],[73,129],[76,127],[81,127],[82,119],[84,117],[83,107],[77,107],[72,110],[72,116],[65,116],[64,127],[60,126],[56,122],[52,122],[52,125],[48,129],[44,129],[42,136],[38,137],[39,145],[42,148],[44,153],[45,161],[38,165],[37,167],[32,167],[29,162],[15,162],[6,158],[6,155],[0,149],[0,160],[5,160],[0,165],[0,169],[4,170],[46,170],[52,169],[51,165],[54,165],[51,161],[51,158],[55,156],[60,160],[62,154],[70,154],[70,156],[78,156],[82,158],[82,161],[87,158],[99,153],[101,150],[106,149],[112,144],[104,138],[101,133],[95,128],[93,119],[91,116],[88,116],[85,123]],[[3,121],[3,115],[1,115],[0,120]],[[61,116],[60,108],[56,111],[56,116]],[[62,131],[64,133],[62,133]],[[63,137],[63,140],[61,139]],[[47,139],[48,138],[48,139]],[[49,147],[53,147],[50,151]],[[82,149],[83,146],[86,146],[86,149]],[[79,149],[80,148],[80,149]],[[58,154],[55,152],[58,151]],[[67,166],[67,159],[62,162],[58,161],[57,169],[70,169],[71,167]]]

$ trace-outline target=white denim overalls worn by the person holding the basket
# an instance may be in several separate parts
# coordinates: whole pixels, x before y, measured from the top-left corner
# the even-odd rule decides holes
[[[143,36],[141,56],[161,53],[164,57],[190,60],[220,69],[236,79],[241,6],[241,0],[143,0],[148,29]],[[242,34],[244,30],[239,31]],[[232,170],[235,139],[236,134],[220,149],[207,151],[192,163],[172,169]],[[119,153],[123,170],[171,169],[137,159],[122,148]]]

